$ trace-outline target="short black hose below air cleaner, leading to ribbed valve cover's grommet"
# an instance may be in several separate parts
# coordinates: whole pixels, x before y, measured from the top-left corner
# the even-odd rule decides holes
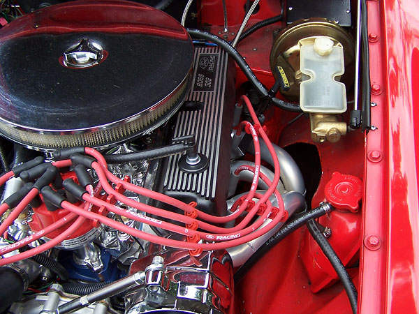
[[[128,163],[130,161],[136,160],[150,160],[155,158],[163,158],[174,154],[182,153],[182,151],[186,151],[188,149],[185,144],[172,144],[168,146],[158,147],[154,149],[147,149],[144,151],[138,151],[135,153],[128,153],[128,154],[106,154],[105,160],[108,163]]]

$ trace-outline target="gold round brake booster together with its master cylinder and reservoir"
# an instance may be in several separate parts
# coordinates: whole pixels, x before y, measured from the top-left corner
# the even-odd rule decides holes
[[[284,70],[288,89],[281,94],[300,103],[310,114],[314,142],[337,142],[346,134],[346,87],[353,84],[354,41],[342,27],[324,18],[299,20],[278,33],[270,54],[277,80],[277,67]]]

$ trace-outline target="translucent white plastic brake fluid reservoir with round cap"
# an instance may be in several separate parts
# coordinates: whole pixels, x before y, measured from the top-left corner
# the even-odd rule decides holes
[[[300,51],[300,106],[304,112],[338,114],[346,111],[346,88],[335,77],[344,74],[344,50],[328,37]]]

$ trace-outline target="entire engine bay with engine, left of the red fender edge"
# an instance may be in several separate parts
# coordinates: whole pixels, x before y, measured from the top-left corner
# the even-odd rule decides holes
[[[1,1],[0,313],[356,313],[365,6]]]

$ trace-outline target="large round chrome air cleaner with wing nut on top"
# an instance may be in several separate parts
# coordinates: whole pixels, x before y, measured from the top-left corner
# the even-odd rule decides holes
[[[182,105],[193,45],[166,13],[128,1],[73,1],[0,30],[0,133],[42,150],[108,147]]]

